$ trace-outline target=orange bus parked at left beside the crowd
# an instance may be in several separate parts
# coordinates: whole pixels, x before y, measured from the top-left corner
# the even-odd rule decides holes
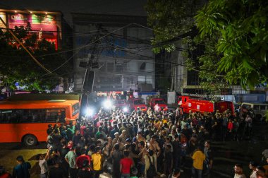
[[[0,143],[46,141],[48,124],[75,121],[79,109],[78,100],[2,101]]]

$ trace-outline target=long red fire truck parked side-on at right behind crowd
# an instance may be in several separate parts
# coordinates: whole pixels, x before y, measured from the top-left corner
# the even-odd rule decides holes
[[[205,100],[201,97],[191,97],[191,96],[179,96],[178,105],[183,109],[183,112],[225,112],[227,109],[234,113],[233,102],[230,101],[215,101]]]

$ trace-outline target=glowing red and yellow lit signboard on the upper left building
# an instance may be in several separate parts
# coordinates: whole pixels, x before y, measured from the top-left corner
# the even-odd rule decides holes
[[[58,28],[56,16],[49,14],[25,14],[25,13],[8,13],[8,28],[15,26],[26,26],[31,24],[32,31],[29,35],[35,33],[39,40],[43,38],[48,42],[54,42],[58,48]]]

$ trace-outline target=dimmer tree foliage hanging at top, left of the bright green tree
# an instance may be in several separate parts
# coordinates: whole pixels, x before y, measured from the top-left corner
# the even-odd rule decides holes
[[[198,0],[148,0],[145,9],[148,13],[147,23],[154,30],[154,52],[162,49],[173,51],[175,45],[166,42],[178,35],[189,32],[194,25],[193,17],[197,12]]]

